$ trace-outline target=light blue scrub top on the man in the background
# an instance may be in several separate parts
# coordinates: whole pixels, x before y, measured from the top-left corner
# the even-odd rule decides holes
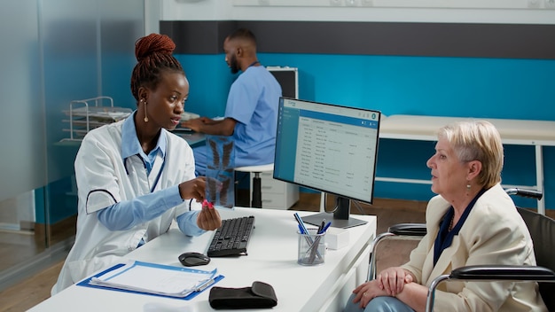
[[[235,167],[274,162],[279,97],[281,86],[264,66],[249,66],[231,84],[225,117],[238,121]]]

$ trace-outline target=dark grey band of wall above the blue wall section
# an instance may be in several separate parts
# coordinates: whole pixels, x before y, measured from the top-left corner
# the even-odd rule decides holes
[[[332,22],[160,21],[179,54],[223,52],[238,27],[253,30],[258,51],[467,58],[555,58],[555,25]]]

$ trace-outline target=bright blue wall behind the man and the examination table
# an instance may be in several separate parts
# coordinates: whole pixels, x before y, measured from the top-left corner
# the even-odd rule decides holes
[[[180,55],[191,83],[186,110],[222,115],[234,79],[222,55]],[[555,121],[555,60],[259,53],[264,66],[299,68],[299,97],[417,114]],[[434,143],[381,140],[377,175],[429,179]],[[555,194],[555,148],[543,149],[545,193]],[[505,145],[503,182],[535,184],[534,148]],[[427,200],[429,185],[376,183],[379,198]],[[519,202],[520,204],[520,202]],[[534,207],[534,201],[520,204]],[[546,207],[555,199],[546,197]]]

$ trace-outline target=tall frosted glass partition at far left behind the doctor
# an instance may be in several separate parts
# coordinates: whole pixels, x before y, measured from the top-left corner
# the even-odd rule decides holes
[[[75,99],[129,91],[144,1],[9,1],[0,11],[0,291],[73,244],[74,157],[64,113]],[[63,258],[61,258],[63,259]]]

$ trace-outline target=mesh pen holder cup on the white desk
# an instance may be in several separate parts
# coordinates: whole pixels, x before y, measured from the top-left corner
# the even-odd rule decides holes
[[[297,263],[306,266],[324,264],[325,232],[317,234],[316,229],[309,229],[308,234],[301,234],[301,232],[297,234],[299,236]]]

